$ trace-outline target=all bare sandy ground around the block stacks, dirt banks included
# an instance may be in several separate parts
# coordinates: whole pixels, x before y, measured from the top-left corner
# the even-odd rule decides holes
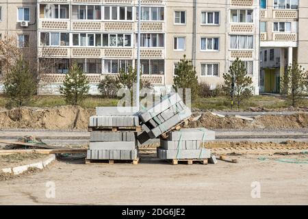
[[[0,140],[29,135],[50,145],[87,147],[88,118],[94,113],[72,106],[2,110]],[[156,158],[157,143],[142,146],[138,165],[85,165],[84,159],[58,157],[44,170],[0,175],[0,205],[307,205],[307,112],[242,114],[253,121],[235,114],[223,118],[198,112],[198,120],[186,127],[215,130],[216,142],[206,147],[218,157],[238,159],[238,164],[218,160],[216,165],[172,166]],[[0,149],[5,147],[0,144]],[[0,167],[38,158],[3,156]],[[49,182],[55,183],[55,198],[46,196]],[[251,196],[255,183],[260,185],[260,198]]]

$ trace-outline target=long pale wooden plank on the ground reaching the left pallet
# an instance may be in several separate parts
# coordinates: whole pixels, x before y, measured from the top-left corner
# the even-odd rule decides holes
[[[0,155],[14,155],[14,154],[57,154],[57,153],[86,153],[88,149],[18,149],[18,150],[0,150]]]

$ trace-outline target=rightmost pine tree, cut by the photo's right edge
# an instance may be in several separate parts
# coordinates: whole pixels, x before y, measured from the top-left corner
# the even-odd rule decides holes
[[[287,72],[281,78],[281,92],[288,96],[293,107],[296,107],[300,99],[307,95],[307,80],[307,71],[296,62],[287,67]]]

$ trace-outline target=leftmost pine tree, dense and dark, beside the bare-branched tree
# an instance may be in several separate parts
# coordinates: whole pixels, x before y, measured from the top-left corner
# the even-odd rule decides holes
[[[27,105],[36,94],[36,89],[36,77],[29,70],[29,64],[19,57],[4,76],[3,93],[10,99],[8,106]]]

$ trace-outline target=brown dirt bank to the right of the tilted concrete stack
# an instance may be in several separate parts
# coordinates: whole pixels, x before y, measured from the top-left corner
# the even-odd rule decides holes
[[[188,123],[185,127],[205,127],[207,129],[302,129],[308,127],[308,114],[256,116],[253,121],[249,121],[235,118],[235,116],[222,118],[208,112],[201,114],[201,118]]]

